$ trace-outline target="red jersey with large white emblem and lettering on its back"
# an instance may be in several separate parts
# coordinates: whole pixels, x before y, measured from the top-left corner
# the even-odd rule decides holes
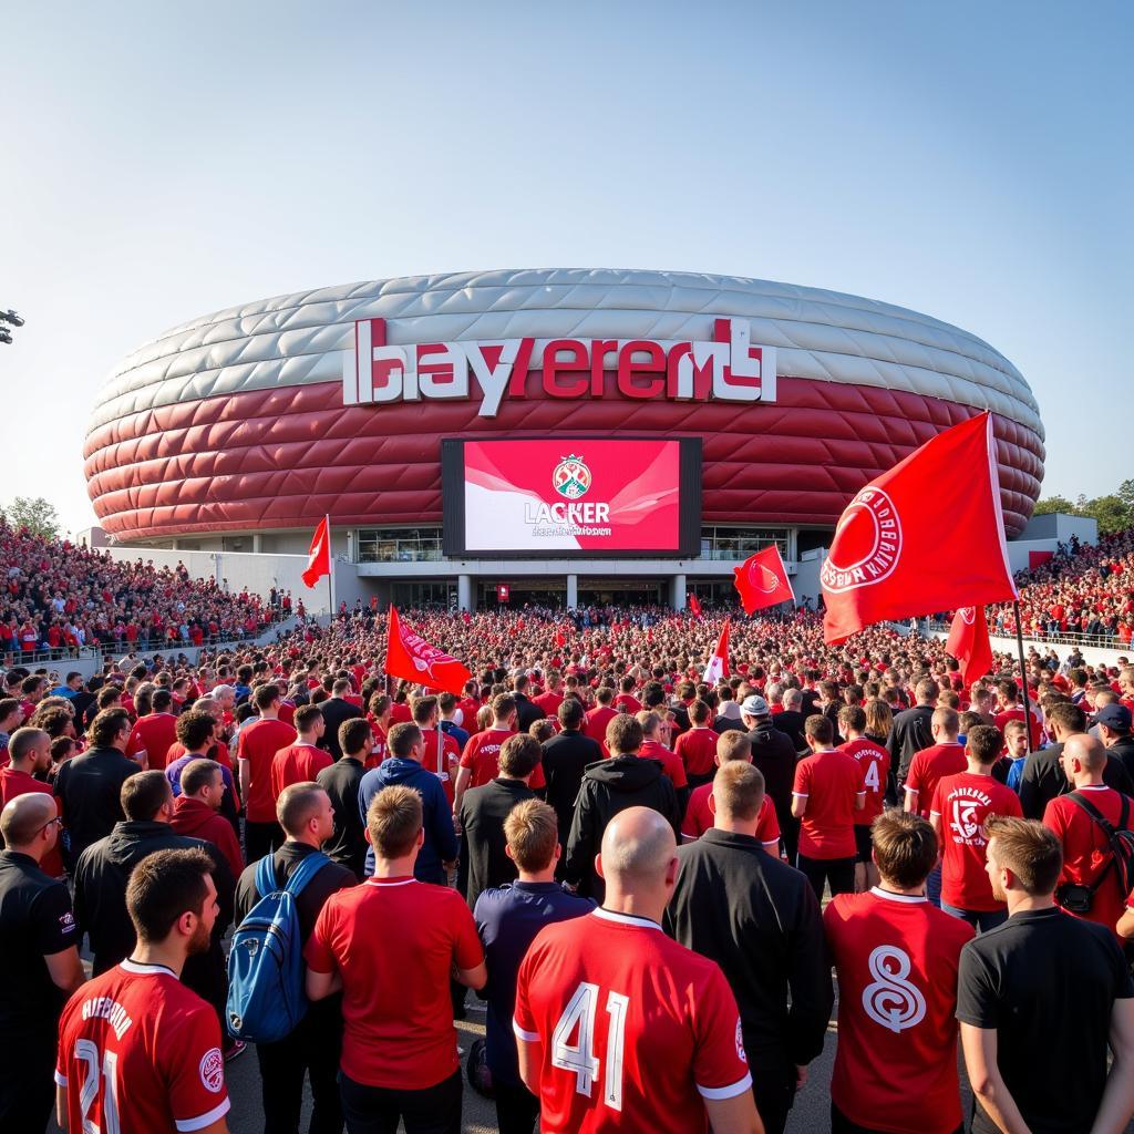
[[[991,776],[964,771],[938,781],[930,819],[941,820],[941,900],[947,906],[973,912],[1005,908],[992,897],[984,869],[984,820],[989,815],[1022,819],[1023,814],[1019,796]]]

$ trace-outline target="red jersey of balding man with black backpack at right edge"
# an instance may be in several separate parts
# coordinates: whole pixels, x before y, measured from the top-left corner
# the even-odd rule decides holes
[[[1095,811],[1102,813],[1115,827],[1123,810],[1123,795],[1112,787],[1099,784],[1091,787],[1076,788]],[[1134,814],[1134,801],[1127,799],[1131,813]],[[1110,843],[1102,828],[1080,807],[1070,795],[1057,795],[1048,803],[1043,812],[1043,826],[1050,827],[1059,836],[1064,845],[1064,869],[1059,875],[1060,883],[1072,882],[1075,886],[1092,886],[1099,880],[1103,870],[1108,877],[1094,891],[1091,909],[1085,914],[1075,914],[1084,921],[1106,925],[1112,933],[1115,923],[1126,907],[1126,895],[1122,892],[1118,874],[1114,869],[1107,869],[1110,862]],[[1068,911],[1069,913],[1070,911]],[[1117,934],[1116,934],[1117,936]]]

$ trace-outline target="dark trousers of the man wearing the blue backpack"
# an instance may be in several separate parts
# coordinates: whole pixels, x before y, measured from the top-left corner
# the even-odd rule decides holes
[[[286,1039],[256,1046],[264,1105],[264,1134],[299,1134],[304,1075],[311,1077],[310,1134],[342,1134],[339,1056],[342,999],[312,1005]]]

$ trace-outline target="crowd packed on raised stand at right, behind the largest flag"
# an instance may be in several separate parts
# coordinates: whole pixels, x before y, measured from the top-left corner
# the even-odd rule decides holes
[[[1083,634],[1125,649],[1134,636],[1134,528],[1095,543],[1072,539],[1055,556],[1016,575],[1025,637]],[[989,627],[1016,633],[1010,603],[990,607]]]

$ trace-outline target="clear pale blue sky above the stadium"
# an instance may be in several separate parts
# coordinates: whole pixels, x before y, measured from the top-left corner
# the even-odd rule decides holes
[[[2,17],[0,502],[93,513],[118,358],[420,272],[829,287],[1010,358],[1044,493],[1134,473],[1134,6],[19,3]]]

